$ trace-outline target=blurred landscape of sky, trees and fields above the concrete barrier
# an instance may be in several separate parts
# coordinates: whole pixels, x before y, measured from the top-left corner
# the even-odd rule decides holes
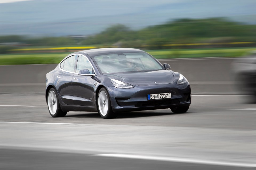
[[[139,48],[158,59],[242,56],[255,50],[255,6],[255,0],[2,0],[1,65],[59,63],[70,52],[105,47]]]

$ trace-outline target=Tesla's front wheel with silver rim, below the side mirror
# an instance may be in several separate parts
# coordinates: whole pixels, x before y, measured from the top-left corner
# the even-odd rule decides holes
[[[97,104],[98,104],[98,112],[103,119],[110,119],[117,117],[112,110],[111,101],[109,97],[109,93],[107,92],[106,88],[101,88],[98,93],[97,97]]]

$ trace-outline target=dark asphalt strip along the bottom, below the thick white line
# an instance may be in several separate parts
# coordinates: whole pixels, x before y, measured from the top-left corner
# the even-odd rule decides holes
[[[234,166],[220,165],[204,165],[192,163],[177,163],[156,160],[143,159],[125,159],[98,156],[89,154],[75,154],[66,152],[44,152],[34,150],[20,149],[1,149],[0,169],[19,169],[19,170],[35,170],[35,169],[61,169],[61,170],[166,170],[166,169],[225,169],[225,170],[241,170],[255,169]],[[12,159],[10,159],[10,157]],[[18,167],[18,168],[17,168]]]

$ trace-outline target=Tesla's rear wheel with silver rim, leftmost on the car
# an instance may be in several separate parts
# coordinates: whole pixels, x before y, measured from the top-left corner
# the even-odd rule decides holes
[[[57,97],[57,92],[54,88],[51,88],[47,95],[47,105],[49,113],[52,117],[64,117],[67,112],[63,112],[59,105],[59,99]]]

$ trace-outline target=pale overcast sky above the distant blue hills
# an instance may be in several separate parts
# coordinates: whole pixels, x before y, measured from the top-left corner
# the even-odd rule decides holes
[[[1,3],[22,0],[1,0]],[[37,2],[35,2],[37,1]],[[176,18],[204,18],[219,16],[237,16],[256,14],[256,0],[32,0],[15,2],[12,5],[1,5],[1,16],[17,16],[32,12],[45,15],[56,15],[56,11],[67,18],[74,15],[106,16],[130,13],[158,13],[177,15]],[[17,4],[17,5],[16,5]],[[28,8],[29,7],[29,8]],[[66,12],[68,8],[76,9],[76,13]],[[69,10],[70,10],[69,9]],[[172,17],[171,16],[171,17]],[[181,16],[181,17],[179,17]],[[33,16],[31,16],[33,17]],[[42,19],[44,19],[42,17]]]

